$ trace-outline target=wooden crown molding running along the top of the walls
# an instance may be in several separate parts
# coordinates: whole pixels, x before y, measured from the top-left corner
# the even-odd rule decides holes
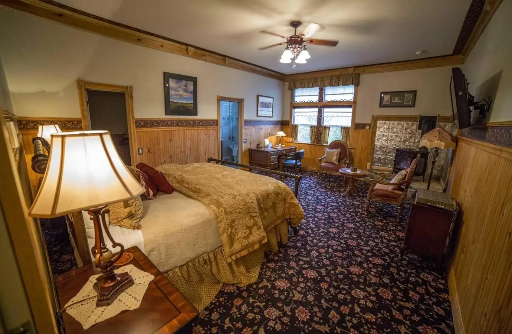
[[[482,5],[480,3],[483,1],[485,1],[485,5],[482,10]],[[76,29],[127,41],[132,44],[174,53],[281,81],[289,81],[292,78],[307,78],[318,75],[337,75],[347,73],[373,74],[461,65],[477,43],[478,38],[484,31],[501,2],[502,0],[473,0],[473,3],[466,14],[464,24],[461,28],[457,44],[452,55],[296,74],[283,74],[259,65],[251,64],[244,60],[232,58],[214,51],[167,38],[165,36],[127,26],[113,20],[63,5],[53,0],[0,0],[0,5]],[[474,21],[476,19],[478,19],[478,21],[475,24]],[[470,32],[471,34],[468,36]]]

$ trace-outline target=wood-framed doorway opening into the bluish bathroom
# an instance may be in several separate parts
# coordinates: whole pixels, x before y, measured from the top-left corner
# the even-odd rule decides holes
[[[244,99],[217,96],[219,127],[219,159],[240,163],[243,129]]]

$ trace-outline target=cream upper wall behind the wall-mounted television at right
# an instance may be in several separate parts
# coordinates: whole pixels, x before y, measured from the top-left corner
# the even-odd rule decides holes
[[[485,122],[512,120],[511,32],[512,1],[504,1],[462,66],[475,98],[494,99]]]

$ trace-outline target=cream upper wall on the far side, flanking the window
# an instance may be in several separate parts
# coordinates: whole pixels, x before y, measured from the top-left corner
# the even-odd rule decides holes
[[[362,74],[355,121],[370,123],[372,115],[451,115],[451,76],[451,67]],[[417,91],[414,108],[379,108],[380,92],[408,90]],[[288,83],[283,92],[283,119],[289,119]]]

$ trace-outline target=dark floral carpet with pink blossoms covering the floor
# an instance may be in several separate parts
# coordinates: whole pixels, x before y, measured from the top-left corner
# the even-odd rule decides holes
[[[267,254],[257,282],[224,285],[180,333],[453,332],[444,268],[399,258],[409,207],[397,222],[396,206],[373,203],[367,218],[365,196],[340,196],[341,178],[303,175],[300,234]],[[366,195],[367,183],[356,187]]]

